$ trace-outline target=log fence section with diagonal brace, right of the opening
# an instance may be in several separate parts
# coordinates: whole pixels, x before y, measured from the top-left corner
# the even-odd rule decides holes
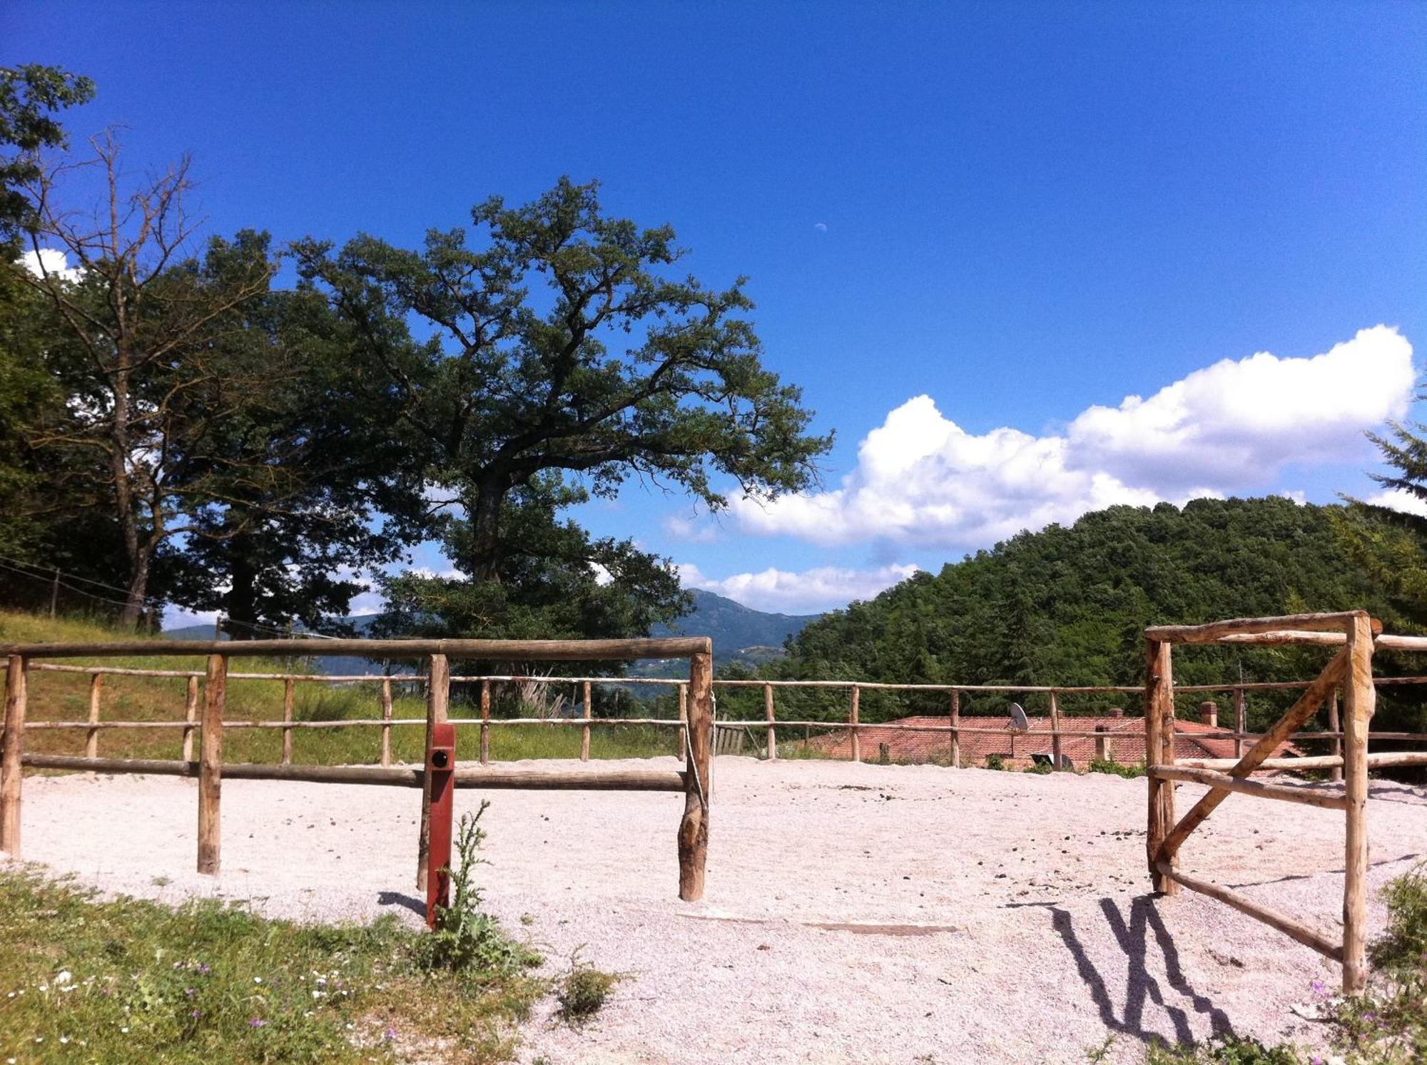
[[[1144,762],[1149,777],[1149,831],[1146,852],[1154,888],[1174,895],[1180,887],[1197,891],[1284,932],[1343,965],[1343,989],[1356,994],[1367,985],[1367,772],[1374,767],[1423,765],[1420,752],[1367,752],[1368,724],[1377,700],[1373,678],[1374,647],[1394,651],[1427,651],[1424,637],[1381,635],[1381,625],[1366,611],[1296,614],[1274,618],[1234,618],[1207,625],[1156,625],[1146,635]],[[1304,685],[1303,695],[1253,747],[1229,765],[1176,765],[1174,759],[1174,644],[1304,644],[1341,648],[1323,671]],[[1296,734],[1333,692],[1343,691],[1340,754],[1323,758],[1270,759],[1269,755]],[[1320,734],[1324,735],[1324,734]],[[1393,735],[1393,734],[1388,734]],[[1417,738],[1413,734],[1396,734]],[[1289,764],[1293,768],[1340,768],[1343,788],[1284,787],[1251,779],[1256,771]],[[1227,769],[1222,772],[1220,768]],[[1209,792],[1184,817],[1174,817],[1176,782],[1203,784]],[[1230,794],[1253,795],[1344,812],[1344,884],[1341,941],[1280,914],[1237,891],[1190,877],[1179,869],[1184,841]]]

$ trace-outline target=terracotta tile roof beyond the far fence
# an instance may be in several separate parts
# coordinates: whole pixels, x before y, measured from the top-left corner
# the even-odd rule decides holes
[[[889,725],[940,725],[950,724],[946,717],[909,717],[888,721]],[[1030,731],[1016,735],[970,732],[973,728],[1007,728],[1009,717],[962,718],[962,765],[985,765],[990,755],[1000,755],[1007,765],[1030,765],[1035,754],[1050,755],[1050,718],[1032,717]],[[1117,762],[1133,765],[1144,761],[1144,721],[1129,717],[1063,717],[1063,731],[1106,732],[1106,752]],[[1223,727],[1206,725],[1200,721],[1174,722],[1176,758],[1233,758],[1234,741],[1212,738],[1224,732]],[[1206,735],[1210,734],[1210,735]],[[862,730],[862,758],[876,761],[880,744],[888,745],[888,758],[893,762],[948,761],[952,738],[949,732],[909,732],[895,728],[869,725]],[[852,754],[852,740],[848,732],[828,732],[812,740],[812,747],[832,758],[848,758]],[[1083,769],[1095,758],[1093,737],[1062,737],[1060,754],[1069,758],[1075,768]],[[1273,757],[1303,754],[1293,744],[1280,744]]]

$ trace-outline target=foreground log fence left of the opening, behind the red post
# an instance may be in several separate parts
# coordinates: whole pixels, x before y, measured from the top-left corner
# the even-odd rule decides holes
[[[106,642],[106,644],[7,644],[0,645],[6,660],[6,708],[4,728],[0,734],[3,755],[0,755],[0,851],[13,858],[20,857],[20,811],[23,799],[23,774],[26,767],[50,769],[88,769],[93,772],[144,772],[198,778],[198,872],[217,874],[221,854],[220,805],[223,778],[235,779],[285,779],[324,784],[372,784],[388,787],[410,787],[422,789],[421,832],[418,838],[417,879],[425,887],[425,848],[430,829],[430,784],[424,768],[398,768],[391,765],[391,728],[405,724],[392,720],[391,684],[425,682],[427,748],[431,747],[432,728],[445,721],[452,724],[478,724],[481,727],[481,768],[457,769],[455,787],[464,788],[598,788],[616,791],[682,791],[685,797],[684,817],[679,821],[679,898],[694,901],[704,894],[704,869],[708,854],[709,822],[709,764],[712,751],[714,718],[714,648],[706,637],[672,640],[254,640],[233,642],[173,642],[164,645],[164,657],[205,655],[207,668],[203,672],[203,704],[198,704],[198,674],[178,670],[124,670],[96,665],[60,665],[36,660],[46,658],[103,658],[111,655],[153,655],[158,648],[151,641]],[[332,677],[307,677],[290,674],[230,674],[228,660],[244,655],[294,655],[334,654],[360,655],[367,658],[411,660],[424,658],[424,677],[390,677],[382,681],[382,717],[364,721],[294,721],[293,694],[300,682],[331,682]],[[686,658],[689,677],[682,684],[686,698],[681,700],[685,714],[679,721],[649,718],[641,724],[674,727],[684,738],[682,771],[655,769],[525,769],[519,767],[489,767],[487,730],[495,724],[514,724],[489,720],[489,688],[484,687],[482,718],[461,722],[450,718],[451,672],[450,658],[484,658],[498,661],[628,661],[639,658]],[[83,722],[36,721],[27,722],[27,691],[31,671],[68,671],[90,675],[88,717]],[[146,677],[187,678],[187,708],[183,721],[103,721],[100,700],[106,675],[130,674]],[[230,680],[281,680],[284,681],[283,721],[228,721],[225,700]],[[364,678],[365,680],[365,678]],[[588,708],[588,700],[586,700]],[[544,721],[544,720],[541,720]],[[293,765],[291,737],[297,728],[327,728],[347,725],[377,725],[382,730],[382,764],[374,765]],[[601,721],[585,718],[579,722],[585,730],[585,755],[588,757],[588,730]],[[73,728],[86,731],[86,752],[78,755],[26,754],[27,730]],[[174,728],[183,731],[183,757],[180,759],[133,759],[100,758],[98,734],[103,728]],[[283,762],[233,764],[224,762],[223,735],[231,728],[281,728]],[[193,738],[197,732],[200,754],[193,759]]]

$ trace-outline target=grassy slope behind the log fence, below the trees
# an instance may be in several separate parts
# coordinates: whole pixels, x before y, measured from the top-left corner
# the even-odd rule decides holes
[[[44,618],[16,611],[0,611],[0,642],[78,642],[114,640],[127,634],[77,618]],[[156,637],[157,654],[146,657],[116,657],[103,665],[148,670],[203,670],[200,655],[174,655],[173,641]],[[170,654],[161,654],[170,651]],[[84,660],[88,664],[87,660]],[[233,672],[303,672],[300,662],[263,658],[234,658]],[[200,681],[201,685],[201,681]],[[227,714],[230,721],[278,721],[283,717],[281,681],[233,680],[228,684]],[[402,687],[418,694],[401,695]],[[402,720],[425,718],[425,697],[420,685],[395,685],[398,698],[392,715]],[[88,715],[88,677],[83,674],[30,672],[31,721],[84,721]],[[161,677],[104,678],[101,720],[107,721],[183,721],[187,681]],[[201,698],[201,697],[200,697]],[[461,698],[461,692],[455,692]],[[669,707],[658,712],[672,715]],[[515,712],[515,707],[509,707]],[[457,701],[452,715],[475,715],[478,711]],[[641,705],[641,715],[655,715],[652,704]],[[337,721],[347,718],[381,717],[378,685],[308,684],[295,688],[294,717],[298,721]],[[462,758],[475,757],[474,728],[462,731]],[[26,737],[26,749],[46,754],[83,754],[84,730],[43,730]],[[281,758],[283,740],[277,730],[228,730],[224,734],[224,758],[235,762],[275,762]],[[418,725],[392,730],[392,757],[397,761],[421,761],[424,730]],[[672,730],[656,731],[638,727],[606,727],[592,730],[592,758],[642,758],[654,754],[674,754],[676,737]],[[183,747],[181,730],[106,730],[100,732],[98,754],[111,758],[177,758]],[[372,727],[294,730],[293,761],[308,765],[351,765],[375,762],[381,754],[381,730]],[[565,727],[514,725],[491,730],[491,758],[517,761],[521,758],[578,758],[579,730]]]

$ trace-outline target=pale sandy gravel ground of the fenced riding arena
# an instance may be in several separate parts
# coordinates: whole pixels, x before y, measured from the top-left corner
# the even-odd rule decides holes
[[[664,761],[664,759],[661,759]],[[672,759],[668,759],[672,765]],[[1182,785],[1180,809],[1202,794]],[[1154,1036],[1316,1044],[1334,966],[1212,899],[1154,899],[1144,782],[721,758],[708,892],[676,897],[682,797],[491,792],[489,909],[626,974],[574,1031],[548,1012],[522,1061],[1140,1061]],[[1380,784],[1373,884],[1427,852],[1427,795]],[[479,795],[458,792],[458,812]],[[26,857],[107,891],[250,899],[304,919],[415,921],[417,795],[228,781],[223,875],[193,872],[191,781],[26,781]],[[1230,797],[1183,867],[1340,931],[1341,814]],[[1374,927],[1383,911],[1374,902]]]

